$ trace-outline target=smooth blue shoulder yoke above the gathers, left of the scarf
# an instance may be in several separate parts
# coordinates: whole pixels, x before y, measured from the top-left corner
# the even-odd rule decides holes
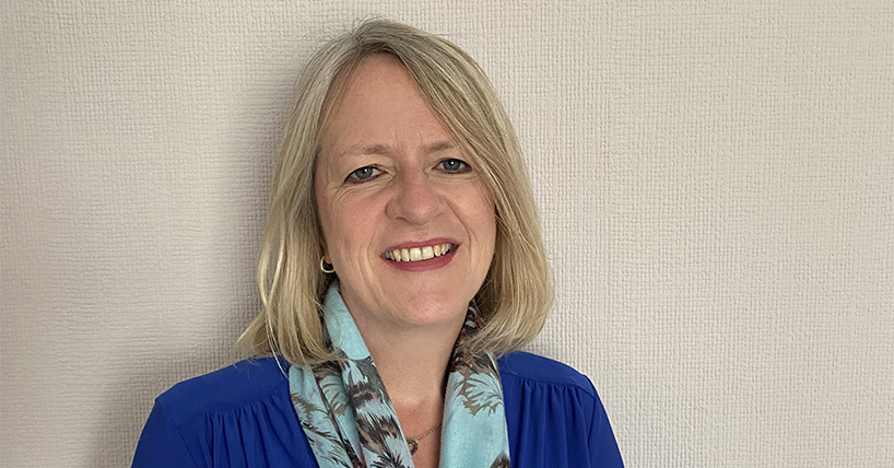
[[[270,398],[283,389],[287,395],[289,363],[273,358],[239,361],[170,387],[156,399],[174,423],[214,411],[225,411]]]

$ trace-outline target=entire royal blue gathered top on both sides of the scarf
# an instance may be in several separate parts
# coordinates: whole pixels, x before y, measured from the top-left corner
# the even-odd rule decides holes
[[[589,378],[525,352],[507,354],[498,365],[513,467],[623,468]],[[272,358],[242,361],[162,394],[132,466],[318,467],[292,407],[289,378]]]

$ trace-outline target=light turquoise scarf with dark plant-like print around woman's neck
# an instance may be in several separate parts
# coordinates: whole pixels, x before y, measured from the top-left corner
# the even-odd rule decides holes
[[[509,467],[503,388],[493,354],[468,355],[477,331],[469,307],[454,346],[444,398],[440,468]],[[373,358],[339,293],[324,303],[328,339],[338,359],[292,365],[289,389],[320,468],[414,468],[407,437]]]

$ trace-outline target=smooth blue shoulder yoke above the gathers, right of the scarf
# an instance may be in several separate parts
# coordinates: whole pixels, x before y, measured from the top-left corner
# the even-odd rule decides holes
[[[497,366],[504,387],[540,384],[567,387],[596,397],[596,389],[586,375],[549,358],[516,351],[499,358]]]

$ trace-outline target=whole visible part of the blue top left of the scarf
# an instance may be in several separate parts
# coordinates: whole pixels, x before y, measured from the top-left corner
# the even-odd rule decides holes
[[[240,361],[155,399],[133,467],[304,466],[313,459],[289,394],[287,364]],[[213,464],[212,464],[213,460]]]

